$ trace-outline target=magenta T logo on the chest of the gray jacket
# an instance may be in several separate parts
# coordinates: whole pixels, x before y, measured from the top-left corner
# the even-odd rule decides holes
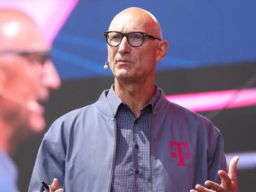
[[[190,158],[189,144],[187,144],[185,142],[171,141],[170,142],[170,147],[171,147],[171,156],[173,158],[177,158],[177,157],[179,158],[179,162],[177,163],[177,165],[178,166],[187,166],[188,164],[186,164],[184,162],[184,158],[185,159],[189,159]],[[177,149],[177,153],[174,152],[174,148]],[[187,152],[184,151],[184,150],[186,150]]]

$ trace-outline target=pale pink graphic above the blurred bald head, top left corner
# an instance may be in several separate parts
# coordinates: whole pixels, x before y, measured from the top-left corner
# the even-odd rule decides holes
[[[40,27],[45,40],[52,42],[78,0],[1,0],[0,9],[14,8],[30,15]]]

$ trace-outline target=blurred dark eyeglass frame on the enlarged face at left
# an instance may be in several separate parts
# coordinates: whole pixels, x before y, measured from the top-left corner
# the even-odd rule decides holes
[[[40,62],[41,65],[45,64],[45,62],[51,57],[51,51],[5,50],[5,51],[0,51],[0,55],[2,54],[17,54],[19,56],[25,57],[26,59],[28,59],[28,61],[37,60],[38,62]],[[40,60],[31,59],[30,57],[28,57],[28,56],[32,56],[33,54],[41,56]]]

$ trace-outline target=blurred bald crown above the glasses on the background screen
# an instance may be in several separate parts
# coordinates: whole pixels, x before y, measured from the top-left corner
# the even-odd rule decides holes
[[[0,9],[0,41],[0,51],[49,49],[35,22],[19,10]]]

